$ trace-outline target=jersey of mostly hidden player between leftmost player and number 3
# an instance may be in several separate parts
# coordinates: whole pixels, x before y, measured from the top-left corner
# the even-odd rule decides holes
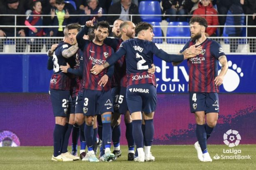
[[[80,62],[83,62],[83,53],[80,49],[77,50],[77,53],[75,55],[75,66],[74,69],[79,69],[80,68]],[[75,78],[72,80],[72,87],[73,87],[73,92],[72,92],[72,98],[78,96],[78,92],[82,91],[82,77],[75,75]]]

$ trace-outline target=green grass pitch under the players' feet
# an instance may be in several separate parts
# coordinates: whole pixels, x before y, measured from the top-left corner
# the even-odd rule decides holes
[[[239,149],[236,155],[250,155],[249,160],[218,159],[214,155],[235,155],[223,153],[231,149]],[[70,150],[70,148],[69,148]],[[226,145],[209,145],[208,150],[212,163],[201,163],[197,159],[196,150],[191,145],[152,146],[154,162],[136,163],[127,161],[127,146],[122,146],[122,156],[113,162],[88,163],[81,160],[73,162],[53,162],[52,146],[42,147],[3,147],[0,148],[0,170],[40,169],[40,170],[256,170],[256,145],[239,145],[229,148]]]

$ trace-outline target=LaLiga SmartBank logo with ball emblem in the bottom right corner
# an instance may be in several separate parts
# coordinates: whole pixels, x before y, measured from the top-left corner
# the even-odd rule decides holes
[[[241,141],[241,136],[238,131],[229,129],[223,135],[223,142],[229,146],[229,149],[223,149],[221,155],[214,156],[214,159],[251,159],[251,155],[242,155],[241,149],[235,149]],[[232,148],[232,149],[231,149]]]

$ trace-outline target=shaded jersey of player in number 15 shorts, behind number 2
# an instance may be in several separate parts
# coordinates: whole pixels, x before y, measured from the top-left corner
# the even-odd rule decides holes
[[[104,43],[108,46],[111,46],[116,52],[119,49],[120,44],[123,42],[119,38],[107,38],[104,40]],[[116,63],[114,63],[114,74],[112,76],[112,87],[121,86],[126,87],[127,85],[126,77],[126,63],[125,56],[122,56]]]

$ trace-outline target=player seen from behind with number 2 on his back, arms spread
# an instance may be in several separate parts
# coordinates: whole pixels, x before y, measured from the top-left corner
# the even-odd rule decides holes
[[[118,51],[107,59],[105,63],[93,66],[90,71],[97,75],[104,68],[113,65],[125,55],[127,75],[126,100],[132,115],[132,135],[138,151],[138,154],[135,154],[134,161],[154,161],[154,156],[150,149],[154,136],[153,117],[157,103],[156,77],[154,74],[147,72],[153,63],[153,55],[155,54],[167,62],[179,62],[195,56],[194,54],[199,54],[201,47],[195,48],[191,46],[190,49],[184,51],[184,55],[168,54],[160,49],[158,44],[152,42],[154,33],[151,24],[141,22],[135,28],[135,32],[138,38],[122,42]],[[101,83],[99,82],[99,84]],[[142,112],[145,120],[144,135],[142,132]],[[145,152],[143,150],[143,141],[146,141]]]

